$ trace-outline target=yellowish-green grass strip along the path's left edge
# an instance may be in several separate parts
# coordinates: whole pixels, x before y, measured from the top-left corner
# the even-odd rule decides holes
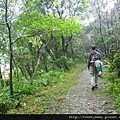
[[[56,113],[68,91],[77,84],[76,80],[80,78],[84,67],[85,65],[76,65],[75,68],[65,72],[61,80],[40,88],[34,95],[24,96],[20,106],[9,110],[7,114],[44,114],[46,109],[49,109],[51,114]]]

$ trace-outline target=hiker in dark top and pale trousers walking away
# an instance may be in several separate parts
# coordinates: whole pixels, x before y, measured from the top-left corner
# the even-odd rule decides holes
[[[102,72],[101,54],[96,51],[96,46],[91,46],[92,51],[88,55],[88,70],[91,75],[92,90],[98,88],[98,75]]]

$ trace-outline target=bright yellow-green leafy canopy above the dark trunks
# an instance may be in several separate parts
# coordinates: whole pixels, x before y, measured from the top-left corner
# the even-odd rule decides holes
[[[71,36],[80,32],[82,26],[75,17],[62,20],[55,18],[52,14],[43,16],[37,11],[30,12],[29,16],[27,13],[22,14],[14,24],[17,26],[18,32],[21,32],[23,28],[26,29],[24,32],[25,36],[41,34],[41,37],[46,40],[51,32],[55,37],[59,37],[61,34],[63,36]]]

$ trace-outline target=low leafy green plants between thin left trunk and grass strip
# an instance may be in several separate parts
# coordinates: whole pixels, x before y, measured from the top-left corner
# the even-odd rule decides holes
[[[55,82],[62,80],[63,73],[59,71],[49,71],[49,72],[37,72],[36,78],[33,79],[32,85],[31,80],[26,79],[25,77],[21,77],[19,81],[14,80],[14,96],[22,95],[31,95],[34,94],[35,91],[41,89],[42,86],[48,86]]]

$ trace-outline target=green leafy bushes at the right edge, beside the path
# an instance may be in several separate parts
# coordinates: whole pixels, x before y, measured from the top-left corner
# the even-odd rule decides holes
[[[112,62],[107,61],[107,63],[109,65],[108,71],[104,73],[104,79],[107,84],[106,90],[107,93],[113,97],[117,110],[120,113],[120,78],[117,70],[118,54],[114,55]]]

